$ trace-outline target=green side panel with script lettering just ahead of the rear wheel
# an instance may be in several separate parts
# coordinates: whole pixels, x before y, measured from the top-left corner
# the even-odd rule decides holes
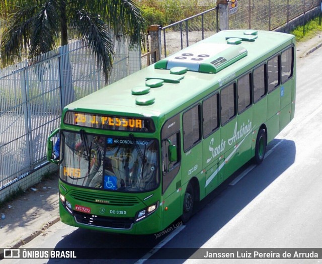
[[[241,113],[237,120],[237,131],[240,138],[238,139],[238,149],[236,150],[238,165],[235,170],[244,165],[252,157],[252,131],[254,127],[252,107]]]

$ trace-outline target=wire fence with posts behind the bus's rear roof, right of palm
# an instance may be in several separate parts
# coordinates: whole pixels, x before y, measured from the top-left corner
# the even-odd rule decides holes
[[[236,12],[228,16],[229,29],[275,30],[313,9],[321,0],[237,0]],[[217,8],[162,28],[162,57],[218,32]]]

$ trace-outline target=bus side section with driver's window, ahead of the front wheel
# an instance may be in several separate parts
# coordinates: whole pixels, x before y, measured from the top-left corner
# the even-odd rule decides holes
[[[178,210],[181,205],[180,146],[180,115],[178,114],[164,124],[161,132],[164,227],[180,216],[180,210]]]

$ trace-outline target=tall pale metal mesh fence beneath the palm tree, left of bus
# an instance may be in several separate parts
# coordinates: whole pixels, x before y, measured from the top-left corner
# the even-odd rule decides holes
[[[114,45],[109,83],[140,69],[129,41]],[[46,161],[47,137],[59,127],[62,108],[103,86],[103,72],[82,41],[0,70],[0,193]]]

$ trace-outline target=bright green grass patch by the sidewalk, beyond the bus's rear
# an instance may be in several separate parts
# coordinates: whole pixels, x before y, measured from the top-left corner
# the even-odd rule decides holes
[[[322,25],[320,23],[320,18],[316,17],[304,26],[298,26],[290,33],[296,38],[296,41],[306,41],[316,35],[317,32],[322,32]]]

